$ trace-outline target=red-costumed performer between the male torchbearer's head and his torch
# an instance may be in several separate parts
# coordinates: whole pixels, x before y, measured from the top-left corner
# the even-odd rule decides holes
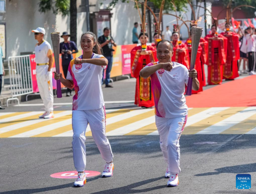
[[[172,33],[173,56],[172,61],[185,65],[189,69],[189,50],[186,45],[180,41],[180,34],[177,25],[173,25]]]

